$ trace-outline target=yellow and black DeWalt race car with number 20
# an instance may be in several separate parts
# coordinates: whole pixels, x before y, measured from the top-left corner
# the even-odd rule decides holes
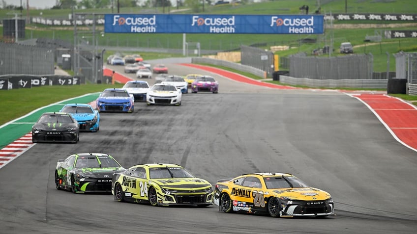
[[[272,217],[334,215],[330,194],[288,173],[253,173],[219,180],[214,199],[226,213],[269,213]]]

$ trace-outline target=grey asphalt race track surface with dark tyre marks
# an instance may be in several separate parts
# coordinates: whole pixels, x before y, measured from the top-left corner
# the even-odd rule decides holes
[[[169,74],[203,73],[174,64],[180,62],[165,61]],[[123,73],[121,66],[112,69]],[[190,92],[180,106],[135,103],[132,114],[101,113],[100,130],[81,133],[78,144],[36,144],[1,168],[0,233],[416,232],[417,153],[364,104],[336,91],[276,90],[214,77],[218,94]],[[227,214],[215,205],[151,207],[59,191],[56,162],[76,152],[109,153],[125,168],[178,163],[212,183],[251,172],[292,173],[328,191],[336,216],[271,218]]]

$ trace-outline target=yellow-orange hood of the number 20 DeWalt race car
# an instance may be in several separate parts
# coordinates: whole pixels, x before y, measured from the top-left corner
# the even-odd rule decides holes
[[[302,201],[319,201],[330,198],[330,194],[328,192],[312,187],[271,189],[270,191],[275,193],[277,197],[287,197]]]

